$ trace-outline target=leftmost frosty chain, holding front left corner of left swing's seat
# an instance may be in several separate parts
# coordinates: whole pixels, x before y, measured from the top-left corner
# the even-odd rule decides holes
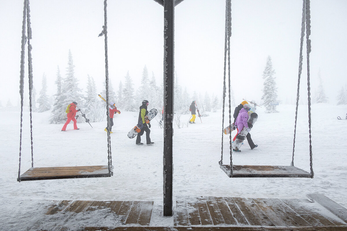
[[[22,46],[20,51],[20,76],[19,76],[19,94],[20,94],[20,138],[19,138],[19,169],[18,169],[18,178],[20,182],[20,160],[22,156],[22,126],[23,126],[23,99],[24,99],[24,60],[25,60],[25,44],[27,37],[25,36],[25,23],[26,23],[26,8],[27,1],[24,0],[24,9],[23,9],[23,24],[22,24]]]

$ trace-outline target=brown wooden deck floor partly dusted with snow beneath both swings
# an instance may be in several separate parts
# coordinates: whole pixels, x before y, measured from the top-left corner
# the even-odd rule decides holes
[[[307,197],[312,202],[213,196],[178,198],[174,216],[163,218],[166,223],[172,219],[171,227],[150,226],[152,201],[59,201],[47,207],[45,221],[66,225],[55,226],[55,230],[69,230],[69,220],[76,217],[82,221],[111,217],[113,225],[106,222],[107,227],[100,227],[86,222],[78,229],[84,231],[347,231],[346,208],[322,194]],[[157,211],[156,216],[161,213]],[[42,223],[42,218],[38,217],[38,222]]]

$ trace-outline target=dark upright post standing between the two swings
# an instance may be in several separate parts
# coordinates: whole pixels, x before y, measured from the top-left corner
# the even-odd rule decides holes
[[[174,118],[174,12],[175,0],[164,0],[164,216],[172,216],[172,135]]]

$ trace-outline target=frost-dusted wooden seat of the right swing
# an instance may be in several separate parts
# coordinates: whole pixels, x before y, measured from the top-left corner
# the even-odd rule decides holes
[[[267,165],[220,165],[228,177],[301,177],[311,178],[311,174],[295,166],[267,166]]]

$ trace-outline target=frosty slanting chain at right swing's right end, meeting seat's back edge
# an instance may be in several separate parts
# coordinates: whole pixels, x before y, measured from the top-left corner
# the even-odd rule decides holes
[[[300,77],[303,69],[303,46],[305,36],[305,23],[306,23],[306,0],[303,0],[303,12],[301,20],[301,38],[300,38],[300,55],[299,55],[299,73],[298,73],[298,88],[296,92],[296,108],[295,108],[295,125],[294,125],[294,141],[293,141],[293,156],[291,158],[291,166],[294,166],[294,149],[295,149],[295,134],[296,134],[296,123],[298,117],[298,106],[299,106],[299,89],[300,89]]]

